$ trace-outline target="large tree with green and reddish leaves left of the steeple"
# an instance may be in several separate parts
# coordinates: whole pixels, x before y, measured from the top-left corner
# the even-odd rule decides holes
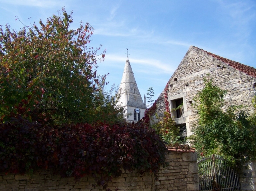
[[[101,104],[96,68],[105,50],[89,46],[89,23],[69,29],[72,22],[63,8],[39,27],[0,26],[1,122],[16,116],[54,124],[95,120]]]

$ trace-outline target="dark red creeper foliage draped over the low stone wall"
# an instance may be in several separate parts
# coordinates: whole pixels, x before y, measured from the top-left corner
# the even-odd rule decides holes
[[[92,174],[106,185],[124,170],[157,173],[166,146],[143,124],[46,126],[23,118],[0,124],[0,171],[61,169],[76,179]]]

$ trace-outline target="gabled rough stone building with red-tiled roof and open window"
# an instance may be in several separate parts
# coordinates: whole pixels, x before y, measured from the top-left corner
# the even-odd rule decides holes
[[[197,118],[197,111],[192,107],[193,98],[203,89],[203,79],[208,78],[207,74],[214,85],[227,90],[224,97],[227,104],[243,104],[248,106],[249,112],[254,110],[252,98],[255,95],[256,69],[190,46],[156,100],[156,112],[160,118],[169,104],[171,116],[180,126],[183,137],[191,135],[190,128]],[[180,109],[172,110],[182,103]]]

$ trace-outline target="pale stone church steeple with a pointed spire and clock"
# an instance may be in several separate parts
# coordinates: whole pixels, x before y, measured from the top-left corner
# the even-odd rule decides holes
[[[137,122],[144,117],[147,109],[146,96],[144,95],[143,103],[128,57],[124,66],[119,93],[121,95],[119,104],[125,108],[128,122]]]

